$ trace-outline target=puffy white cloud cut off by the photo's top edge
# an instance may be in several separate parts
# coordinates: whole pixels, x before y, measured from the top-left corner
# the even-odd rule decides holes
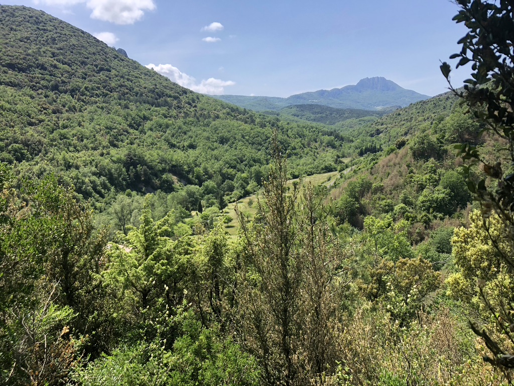
[[[116,24],[134,24],[144,15],[144,10],[153,11],[153,0],[88,0],[87,8],[93,10],[93,19]]]

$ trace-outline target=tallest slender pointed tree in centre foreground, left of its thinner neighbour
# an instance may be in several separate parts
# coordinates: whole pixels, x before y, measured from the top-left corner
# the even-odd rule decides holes
[[[242,214],[237,215],[243,224],[251,268],[258,275],[259,285],[248,291],[248,299],[254,300],[249,313],[256,354],[268,384],[284,381],[289,386],[298,376],[293,340],[298,336],[295,319],[303,267],[298,256],[295,210],[298,185],[289,193],[285,160],[278,152],[276,159],[265,184],[265,202],[258,201],[259,214],[253,223],[247,226]]]

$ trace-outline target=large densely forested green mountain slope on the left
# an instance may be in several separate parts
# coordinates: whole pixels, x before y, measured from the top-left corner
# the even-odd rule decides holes
[[[224,206],[262,184],[274,131],[295,176],[337,169],[326,128],[194,93],[56,17],[0,6],[0,162],[17,176],[53,173],[95,203],[191,185],[188,209]]]

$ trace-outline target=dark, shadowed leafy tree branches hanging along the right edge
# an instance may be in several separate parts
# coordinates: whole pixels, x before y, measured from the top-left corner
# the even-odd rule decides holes
[[[494,136],[503,146],[494,159],[487,159],[481,151],[469,144],[459,147],[461,156],[468,161],[464,173],[473,198],[482,208],[483,227],[497,251],[498,258],[506,266],[512,276],[514,258],[505,253],[503,243],[514,243],[514,2],[483,0],[456,0],[460,11],[453,20],[464,23],[468,33],[458,43],[461,51],[450,56],[458,59],[456,67],[471,63],[471,78],[464,81],[464,89],[455,89],[450,82],[451,67],[443,63],[440,69],[450,84],[450,89],[467,104],[469,112],[485,125],[484,131]],[[473,178],[473,167],[482,166],[484,177],[478,181]],[[502,165],[507,165],[503,167]],[[506,169],[506,170],[504,170]],[[489,218],[498,215],[503,224],[500,233],[491,232]],[[484,292],[482,300],[489,304]],[[512,304],[505,306],[512,310]],[[497,318],[498,328],[510,337],[505,323],[514,325],[514,320],[507,313],[507,319],[501,321],[497,317],[498,310],[489,307]],[[473,330],[481,336],[491,353],[492,358],[485,360],[505,370],[514,368],[512,350],[490,337],[490,334],[477,326]],[[510,378],[509,378],[510,379]]]

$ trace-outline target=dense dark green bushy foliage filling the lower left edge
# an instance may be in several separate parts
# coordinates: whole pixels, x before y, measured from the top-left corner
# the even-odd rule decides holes
[[[55,179],[20,191],[6,167],[0,174],[0,376],[6,384],[60,384],[81,352],[96,354],[116,339],[98,277],[105,239]]]

